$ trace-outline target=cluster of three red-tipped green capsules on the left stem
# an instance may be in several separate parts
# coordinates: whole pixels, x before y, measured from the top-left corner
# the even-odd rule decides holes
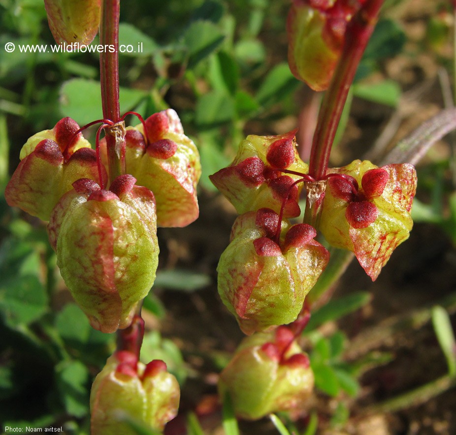
[[[65,284],[91,325],[130,325],[158,265],[157,226],[185,226],[199,213],[198,151],[174,110],[126,134],[127,174],[108,180],[105,141],[97,150],[71,118],[33,135],[5,189],[6,201],[49,221]]]

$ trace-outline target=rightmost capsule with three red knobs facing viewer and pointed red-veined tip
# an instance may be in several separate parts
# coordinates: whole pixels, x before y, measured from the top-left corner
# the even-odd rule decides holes
[[[374,281],[412,229],[415,168],[355,160],[331,172],[340,176],[328,179],[320,229],[331,245],[352,251]]]

